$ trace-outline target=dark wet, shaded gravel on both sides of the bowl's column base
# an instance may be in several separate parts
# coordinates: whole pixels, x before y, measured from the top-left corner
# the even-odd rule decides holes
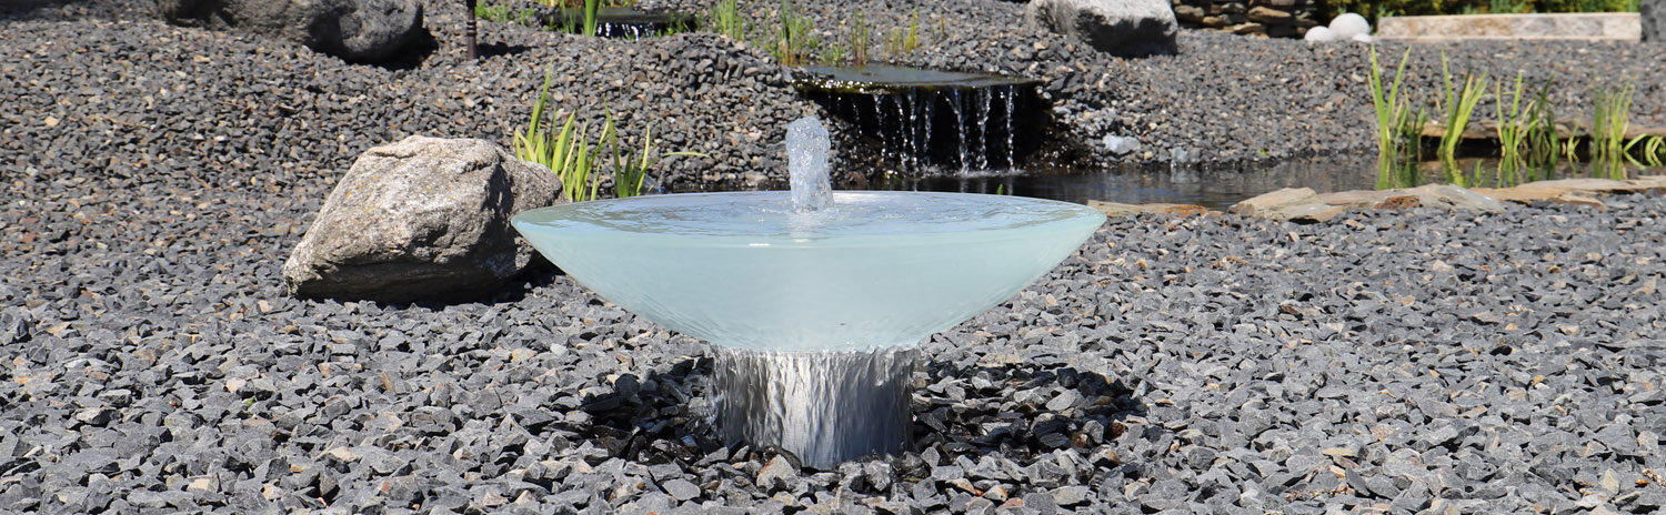
[[[700,467],[780,453],[726,447],[716,438],[705,413],[711,367],[710,357],[700,357],[645,377],[621,375],[613,392],[583,398],[580,410],[590,415],[588,422],[558,427],[610,457],[646,465]],[[1123,418],[1143,415],[1143,403],[1130,387],[1095,372],[1033,363],[961,368],[946,362],[930,362],[923,372],[928,387],[915,392],[915,448],[893,458],[900,463],[918,462],[915,455],[926,448],[1020,462],[1060,448],[1091,452],[1121,435]],[[938,385],[948,387],[938,393]],[[961,388],[961,395],[951,388]],[[796,457],[788,458],[798,463]]]

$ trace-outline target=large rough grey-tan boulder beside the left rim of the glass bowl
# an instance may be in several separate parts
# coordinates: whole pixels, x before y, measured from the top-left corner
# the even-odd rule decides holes
[[[550,170],[485,140],[410,137],[370,148],[283,263],[297,297],[478,298],[533,257],[510,217],[556,203]]]

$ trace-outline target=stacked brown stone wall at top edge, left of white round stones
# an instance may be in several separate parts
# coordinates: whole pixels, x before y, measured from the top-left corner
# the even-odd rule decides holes
[[[1319,25],[1314,0],[1171,0],[1180,27],[1299,38]]]

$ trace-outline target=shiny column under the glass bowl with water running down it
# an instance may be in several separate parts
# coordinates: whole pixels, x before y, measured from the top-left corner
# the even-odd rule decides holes
[[[775,445],[805,467],[900,453],[913,443],[916,347],[758,352],[713,345],[715,417],[728,443]]]

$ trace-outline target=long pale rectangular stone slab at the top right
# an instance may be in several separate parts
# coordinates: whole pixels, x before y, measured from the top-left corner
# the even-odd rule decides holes
[[[1388,17],[1378,22],[1376,37],[1416,43],[1459,40],[1641,42],[1643,18],[1638,13]]]

